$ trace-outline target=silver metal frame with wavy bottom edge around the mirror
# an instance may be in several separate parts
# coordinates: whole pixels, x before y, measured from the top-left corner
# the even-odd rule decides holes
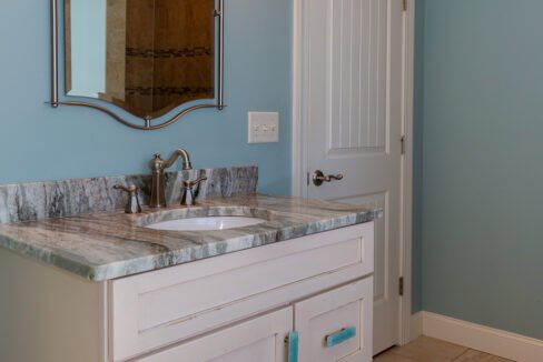
[[[216,80],[216,88],[217,88],[217,103],[216,104],[196,104],[190,108],[184,109],[178,112],[174,118],[162,121],[161,123],[152,124],[154,119],[144,119],[144,124],[135,124],[122,117],[120,117],[115,111],[110,110],[109,108],[102,107],[97,103],[91,102],[83,102],[83,101],[63,101],[59,100],[59,13],[58,13],[58,1],[59,0],[51,0],[51,101],[50,104],[52,108],[58,108],[59,105],[80,105],[80,107],[88,107],[101,112],[105,112],[111,115],[118,122],[128,125],[132,129],[142,130],[142,131],[152,131],[159,130],[165,127],[168,127],[175,122],[177,122],[181,117],[185,114],[203,109],[203,108],[217,108],[218,110],[223,110],[225,108],[224,104],[224,70],[225,70],[225,20],[224,20],[224,0],[218,0],[218,7],[215,10],[215,17],[218,18],[218,43],[216,44],[218,56],[217,56],[217,80]],[[111,104],[111,107],[115,107]],[[157,118],[160,120],[161,117]]]

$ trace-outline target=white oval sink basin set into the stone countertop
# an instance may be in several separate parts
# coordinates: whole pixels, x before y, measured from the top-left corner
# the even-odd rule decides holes
[[[157,222],[145,228],[176,231],[209,231],[250,227],[266,221],[264,219],[247,217],[204,217]]]

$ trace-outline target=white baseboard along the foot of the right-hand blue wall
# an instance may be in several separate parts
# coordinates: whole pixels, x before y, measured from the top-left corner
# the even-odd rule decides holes
[[[419,322],[422,321],[422,323]],[[412,335],[422,334],[519,362],[542,362],[543,341],[453,318],[419,312],[413,315]]]

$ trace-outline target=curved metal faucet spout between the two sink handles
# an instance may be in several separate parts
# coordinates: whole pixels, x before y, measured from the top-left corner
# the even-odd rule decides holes
[[[155,158],[149,163],[151,171],[152,171],[152,185],[151,185],[151,199],[149,202],[149,207],[152,209],[158,208],[166,208],[166,198],[165,198],[165,185],[166,180],[164,175],[164,170],[170,168],[178,158],[182,160],[182,170],[192,170],[192,164],[190,163],[190,157],[188,152],[184,149],[177,149],[171,153],[167,161],[160,158],[160,154],[155,154]]]

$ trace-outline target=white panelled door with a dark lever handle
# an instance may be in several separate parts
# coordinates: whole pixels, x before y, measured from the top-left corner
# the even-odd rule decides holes
[[[398,343],[403,0],[302,0],[307,195],[384,209],[374,353]],[[316,187],[315,171],[343,174]]]

